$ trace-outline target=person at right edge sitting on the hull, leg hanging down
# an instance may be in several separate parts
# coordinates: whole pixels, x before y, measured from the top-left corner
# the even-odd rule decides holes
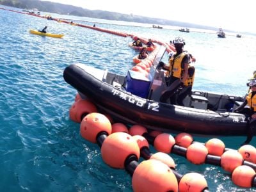
[[[256,133],[256,78],[251,80],[248,86],[250,86],[250,93],[248,93],[244,102],[234,110],[235,113],[239,113],[246,105],[250,107],[250,114],[248,114],[250,115],[249,129],[246,141],[242,145],[250,143]]]

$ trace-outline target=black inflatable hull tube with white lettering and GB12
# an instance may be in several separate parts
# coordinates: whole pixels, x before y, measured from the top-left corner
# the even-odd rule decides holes
[[[126,124],[140,124],[164,132],[205,136],[246,135],[247,117],[187,108],[147,100],[95,78],[76,64],[65,68],[65,81],[101,110]]]

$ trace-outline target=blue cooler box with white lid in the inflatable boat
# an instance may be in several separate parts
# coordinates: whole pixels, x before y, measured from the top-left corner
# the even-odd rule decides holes
[[[142,98],[148,97],[148,90],[152,81],[152,76],[145,77],[145,74],[133,70],[128,70],[125,90]]]

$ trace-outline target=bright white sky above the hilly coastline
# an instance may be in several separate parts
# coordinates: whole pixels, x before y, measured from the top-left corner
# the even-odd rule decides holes
[[[255,0],[44,0],[256,33]]]

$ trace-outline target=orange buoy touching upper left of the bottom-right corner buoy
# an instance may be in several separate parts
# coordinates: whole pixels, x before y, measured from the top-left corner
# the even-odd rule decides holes
[[[220,159],[221,167],[232,173],[237,166],[240,166],[243,163],[243,157],[236,150],[227,150],[224,152]]]

